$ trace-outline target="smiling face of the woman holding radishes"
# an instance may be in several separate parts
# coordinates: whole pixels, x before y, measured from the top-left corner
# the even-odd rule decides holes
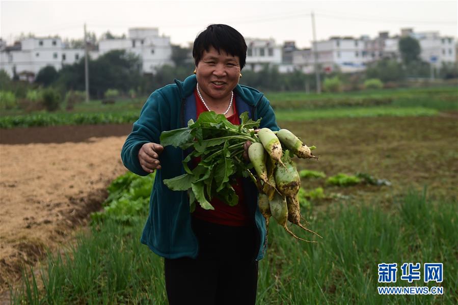
[[[204,99],[213,101],[230,99],[231,91],[240,78],[240,60],[224,50],[220,53],[213,48],[204,50],[196,67],[199,90]]]

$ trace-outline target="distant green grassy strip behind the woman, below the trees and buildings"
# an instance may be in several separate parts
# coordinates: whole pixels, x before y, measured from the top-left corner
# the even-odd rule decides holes
[[[367,90],[345,93],[267,92],[279,121],[316,120],[379,116],[435,116],[458,111],[455,87]],[[133,123],[147,97],[120,99],[114,104],[101,100],[77,103],[71,111],[24,113],[20,109],[2,110],[0,128]],[[65,105],[64,105],[65,106]]]

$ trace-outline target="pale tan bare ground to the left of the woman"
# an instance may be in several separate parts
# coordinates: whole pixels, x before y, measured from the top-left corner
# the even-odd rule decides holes
[[[126,172],[120,160],[124,140],[0,144],[0,291],[18,279],[24,262],[38,261],[100,209],[106,186]]]

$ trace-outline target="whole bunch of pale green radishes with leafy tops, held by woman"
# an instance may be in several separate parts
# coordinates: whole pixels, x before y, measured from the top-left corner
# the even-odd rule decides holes
[[[161,145],[188,152],[182,161],[184,173],[164,179],[164,184],[172,190],[187,191],[193,212],[196,204],[203,209],[214,209],[213,198],[230,206],[238,204],[232,185],[237,177],[251,177],[260,193],[259,208],[267,228],[273,216],[289,234],[304,240],[287,227],[290,221],[312,232],[301,223],[298,199],[301,179],[291,157],[317,158],[311,152],[315,147],[307,147],[286,129],[278,132],[255,129],[260,121],[251,120],[245,112],[240,115],[240,124],[233,125],[224,115],[204,112],[196,122],[190,120],[187,127],[162,132]],[[250,162],[243,160],[247,141],[252,143],[248,149]],[[193,160],[200,161],[196,165]]]

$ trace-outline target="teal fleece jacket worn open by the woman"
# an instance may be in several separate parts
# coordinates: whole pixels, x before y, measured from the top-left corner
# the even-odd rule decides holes
[[[193,94],[196,84],[195,75],[188,76],[184,81],[175,79],[175,84],[160,88],[149,96],[122,147],[121,159],[128,170],[140,176],[148,175],[138,159],[142,145],[160,143],[161,132],[185,127],[189,119],[196,120],[196,100]],[[235,87],[234,93],[239,114],[248,111],[253,120],[261,119],[260,128],[279,130],[274,111],[262,93],[241,85]],[[166,146],[159,156],[161,169],[156,171],[149,215],[141,237],[141,242],[154,253],[168,259],[196,258],[199,251],[197,238],[191,229],[187,193],[172,191],[163,182],[164,179],[184,174],[181,162],[184,157],[183,150],[172,146]],[[266,250],[265,220],[257,205],[254,183],[244,179],[243,188],[250,217],[259,233],[253,259],[260,260]]]

